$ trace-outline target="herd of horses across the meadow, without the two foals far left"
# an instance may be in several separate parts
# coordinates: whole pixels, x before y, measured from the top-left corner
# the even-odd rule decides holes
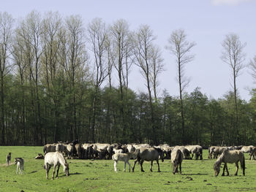
[[[167,158],[170,159],[171,163],[173,164],[173,174],[176,174],[178,169],[179,173],[181,174],[181,163],[183,159],[192,159],[194,156],[196,160],[203,159],[203,147],[200,145],[170,147],[169,145],[150,146],[148,144],[80,144],[77,141],[74,141],[71,143],[58,142],[54,144],[47,144],[44,146],[43,151],[45,153],[44,167],[46,170],[46,177],[48,178],[50,167],[53,166],[52,179],[54,178],[56,167],[56,177],[58,177],[60,165],[63,166],[65,174],[67,176],[69,175],[69,165],[67,164],[64,155],[67,156],[67,158],[113,159],[115,172],[117,172],[116,164],[118,161],[124,161],[124,172],[126,171],[126,165],[128,164],[130,172],[131,166],[129,164],[129,159],[135,159],[135,162],[132,166],[132,172],[134,172],[137,162],[140,164],[141,172],[144,172],[144,161],[151,161],[151,172],[153,161],[157,161],[158,172],[160,172],[159,159],[164,161],[164,159]],[[233,147],[208,147],[208,158],[217,158],[217,161],[214,163],[215,176],[218,176],[222,163],[224,164],[222,176],[225,175],[225,170],[227,175],[229,175],[227,163],[236,164],[237,169],[235,175],[237,175],[238,162],[240,162],[241,169],[243,169],[243,174],[245,174],[244,153],[249,153],[249,159],[255,159],[256,147],[252,145]],[[42,154],[41,158],[43,158]]]

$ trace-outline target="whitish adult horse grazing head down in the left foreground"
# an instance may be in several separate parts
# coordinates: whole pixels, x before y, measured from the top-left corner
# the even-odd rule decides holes
[[[57,174],[56,174],[56,178],[58,178],[59,167],[61,165],[63,166],[63,171],[65,172],[66,176],[69,176],[69,164],[67,164],[67,161],[64,158],[64,155],[59,151],[46,153],[45,154],[45,165],[44,165],[44,168],[46,170],[46,178],[48,179],[48,174],[49,174],[51,166],[53,166],[52,180],[54,178],[56,166],[58,166]]]

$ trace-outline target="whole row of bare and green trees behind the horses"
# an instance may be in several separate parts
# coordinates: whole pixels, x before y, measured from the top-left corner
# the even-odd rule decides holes
[[[236,87],[245,46],[236,34],[227,35],[222,55],[233,69],[233,91],[216,100],[200,88],[185,92],[184,69],[194,58],[195,42],[188,42],[183,30],[173,31],[166,46],[176,58],[176,97],[167,91],[157,95],[164,65],[149,26],[130,31],[125,20],[107,26],[97,18],[84,28],[78,15],[63,19],[48,12],[42,18],[35,11],[14,25],[11,15],[0,13],[1,145],[73,139],[155,145],[256,142],[256,94],[243,101]],[[146,93],[129,88],[132,65],[139,67]]]

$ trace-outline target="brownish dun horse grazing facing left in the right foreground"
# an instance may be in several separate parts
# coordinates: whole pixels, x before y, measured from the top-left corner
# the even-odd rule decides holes
[[[214,172],[215,176],[217,177],[220,171],[220,166],[222,162],[224,163],[223,167],[223,173],[222,176],[225,176],[225,169],[227,170],[227,163],[229,164],[236,164],[236,173],[238,172],[238,161],[240,161],[241,169],[243,169],[243,174],[245,171],[245,161],[244,161],[244,153],[241,152],[241,150],[224,150],[222,155],[219,156],[217,161],[214,164]],[[229,175],[229,172],[227,170],[227,176]]]

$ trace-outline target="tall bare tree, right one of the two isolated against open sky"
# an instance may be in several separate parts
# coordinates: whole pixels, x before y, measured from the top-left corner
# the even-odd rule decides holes
[[[241,43],[237,34],[227,34],[222,42],[222,61],[228,64],[232,69],[233,77],[233,92],[234,92],[234,102],[236,111],[236,123],[234,125],[234,131],[236,132],[236,141],[239,143],[239,131],[238,131],[238,88],[236,86],[236,81],[241,73],[241,69],[244,68],[244,47],[246,44]]]

